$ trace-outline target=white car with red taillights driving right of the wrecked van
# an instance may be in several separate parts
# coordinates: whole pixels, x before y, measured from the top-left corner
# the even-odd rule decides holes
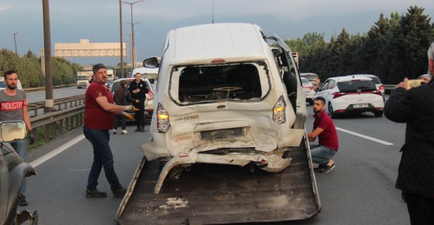
[[[325,99],[332,118],[338,114],[373,112],[383,116],[384,101],[374,81],[366,76],[338,76],[327,79],[316,93]]]

